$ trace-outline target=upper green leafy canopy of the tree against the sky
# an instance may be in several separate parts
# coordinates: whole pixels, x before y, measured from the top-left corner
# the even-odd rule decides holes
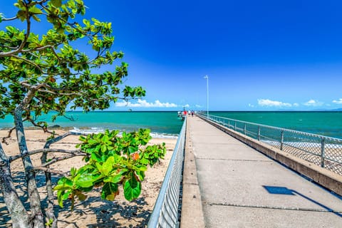
[[[6,19],[0,14],[1,24],[20,19],[26,29],[6,24],[0,31],[0,118],[13,113],[16,105],[22,106],[24,121],[34,123],[32,111],[38,117],[51,110],[63,115],[66,108],[103,110],[118,98],[145,95],[140,86],[120,88],[128,76],[127,63],[93,73],[123,58],[123,52],[110,51],[114,42],[110,22],[79,19],[86,12],[83,1],[18,0],[14,6],[16,16]],[[41,21],[51,28],[45,34],[33,33],[33,24]],[[81,42],[93,53],[86,55],[74,47]]]

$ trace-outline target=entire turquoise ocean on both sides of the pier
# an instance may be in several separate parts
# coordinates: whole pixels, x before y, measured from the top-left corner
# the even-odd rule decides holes
[[[338,111],[221,111],[209,112],[209,114],[342,139],[342,112]],[[150,128],[152,134],[156,137],[173,138],[180,133],[182,128],[182,121],[178,118],[177,111],[68,112],[66,116],[73,120],[58,117],[54,123],[51,122],[51,116],[52,114],[44,115],[40,120],[48,122],[49,125],[59,125],[62,128],[71,128],[83,132],[99,132],[104,129],[132,131],[138,128]],[[11,116],[0,120],[0,129],[11,128],[11,126],[13,126]]]

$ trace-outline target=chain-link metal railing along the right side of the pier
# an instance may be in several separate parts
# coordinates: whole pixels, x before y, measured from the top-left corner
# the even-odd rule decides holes
[[[206,113],[198,113],[207,119]],[[209,120],[342,175],[342,139],[209,115]]]

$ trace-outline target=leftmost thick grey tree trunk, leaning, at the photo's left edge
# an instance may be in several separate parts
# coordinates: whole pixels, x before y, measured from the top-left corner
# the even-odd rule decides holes
[[[4,202],[12,218],[12,227],[31,227],[30,217],[19,199],[11,178],[9,159],[0,143],[0,187]]]

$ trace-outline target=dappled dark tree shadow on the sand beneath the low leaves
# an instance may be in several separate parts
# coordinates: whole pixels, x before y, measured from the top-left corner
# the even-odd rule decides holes
[[[26,192],[26,185],[24,183],[24,172],[14,172],[12,173],[14,177],[14,184],[16,185],[16,190],[19,192],[21,202],[23,202],[26,209],[30,207],[28,202],[28,196]],[[43,174],[36,175],[36,181],[40,192],[46,192],[45,190],[45,176]],[[53,182],[57,182],[58,177],[53,177]],[[100,189],[93,190],[96,195],[100,195]],[[45,195],[45,194],[44,194]],[[46,198],[42,200],[42,207],[46,208]],[[95,204],[94,202],[99,202]],[[85,227],[78,225],[78,219],[84,219],[87,214],[95,214],[96,221],[90,221],[86,224],[86,227],[118,227],[118,228],[128,228],[128,227],[147,227],[148,219],[152,211],[144,209],[145,202],[144,197],[133,200],[132,202],[118,202],[118,201],[107,201],[103,200],[97,196],[90,196],[85,201],[77,201],[73,212],[70,212],[70,202],[65,202],[64,207],[61,208],[55,205],[55,214],[58,217],[58,223],[61,222],[63,227],[68,226],[68,224],[73,224],[71,227]],[[62,215],[63,214],[63,215]],[[58,216],[62,215],[62,216]],[[73,219],[69,219],[73,217]],[[76,221],[74,221],[76,220]],[[4,204],[4,198],[0,190],[0,228],[11,227],[11,215],[9,214],[6,206]],[[134,224],[134,225],[133,225]]]

